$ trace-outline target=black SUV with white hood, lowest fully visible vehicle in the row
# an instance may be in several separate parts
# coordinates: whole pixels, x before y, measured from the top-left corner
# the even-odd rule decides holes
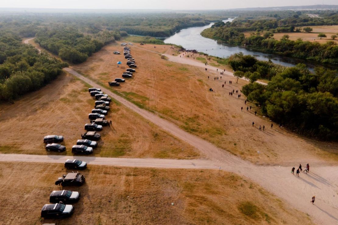
[[[43,218],[63,218],[69,217],[74,212],[73,205],[65,204],[46,204],[41,209],[41,217]]]

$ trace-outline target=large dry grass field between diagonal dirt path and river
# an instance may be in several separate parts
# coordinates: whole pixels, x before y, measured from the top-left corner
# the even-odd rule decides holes
[[[303,139],[277,128],[277,124],[270,129],[271,121],[259,113],[255,116],[255,110],[259,109],[252,103],[245,105],[245,96],[242,95],[240,99],[236,95],[229,96],[232,90],[240,91],[246,81],[239,80],[236,84],[232,76],[220,78],[216,71],[206,72],[201,67],[161,59],[163,52],[173,51],[168,49],[170,47],[157,45],[154,48],[149,44],[131,46],[131,54],[138,65],[137,72],[126,83],[111,90],[119,92],[139,107],[160,113],[180,128],[254,163],[289,165],[297,157],[309,162],[317,162],[318,158],[321,162],[338,159],[337,144]],[[123,55],[113,54],[122,50],[118,44],[108,45],[86,62],[73,66],[73,69],[107,85],[108,81],[121,77],[128,68]],[[122,65],[117,67],[117,61],[122,61]],[[217,76],[219,79],[214,80]],[[222,88],[224,80],[227,83]],[[232,85],[228,83],[230,80]],[[208,91],[210,87],[214,92]],[[252,109],[246,111],[247,106],[252,106]],[[243,112],[241,107],[244,108]],[[252,121],[256,126],[252,127]],[[265,125],[264,132],[258,131],[259,125]],[[259,158],[258,150],[261,152]]]

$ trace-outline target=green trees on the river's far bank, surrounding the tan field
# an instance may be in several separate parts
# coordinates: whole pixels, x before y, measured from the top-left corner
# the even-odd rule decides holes
[[[281,40],[273,38],[273,33],[276,32],[301,32],[302,30],[295,28],[298,26],[338,24],[337,12],[324,11],[321,16],[325,18],[309,18],[300,11],[286,11],[282,15],[284,18],[279,14],[267,14],[264,18],[240,17],[232,23],[217,22],[211,28],[204,30],[202,35],[251,50],[338,64],[338,46],[333,41],[320,45],[301,39],[290,40],[288,35],[284,35]],[[310,29],[305,28],[304,32],[311,32]],[[257,33],[245,38],[243,33],[245,31]],[[262,31],[264,31],[263,35],[260,34]]]

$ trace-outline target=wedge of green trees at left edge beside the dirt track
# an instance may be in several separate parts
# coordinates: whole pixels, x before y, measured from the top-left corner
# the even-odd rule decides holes
[[[0,101],[38,90],[68,66],[48,54],[39,54],[33,46],[22,44],[19,36],[10,33],[0,33],[0,49]]]

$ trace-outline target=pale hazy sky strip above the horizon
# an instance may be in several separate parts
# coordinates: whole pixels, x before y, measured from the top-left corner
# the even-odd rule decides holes
[[[0,7],[78,9],[229,9],[289,5],[336,5],[338,0],[0,0]]]

